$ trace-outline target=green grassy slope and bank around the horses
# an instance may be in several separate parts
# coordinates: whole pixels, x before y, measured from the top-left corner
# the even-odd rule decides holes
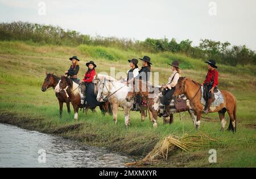
[[[218,114],[208,114],[210,119],[202,119],[201,128],[195,131],[188,114],[175,114],[172,125],[154,129],[149,120],[141,122],[138,112],[131,112],[131,126],[126,129],[123,112],[118,113],[118,123],[114,125],[111,116],[80,112],[79,122],[73,120],[73,112],[68,115],[64,107],[63,118],[59,119],[59,105],[53,90],[40,90],[45,71],[64,74],[70,66],[69,57],[80,59],[81,79],[86,70],[85,63],[93,59],[97,72],[109,73],[115,67],[116,73],[129,69],[127,59],[143,57],[144,53],[124,51],[101,46],[53,46],[26,44],[24,42],[0,41],[0,122],[12,123],[20,127],[61,135],[79,140],[82,144],[106,147],[109,150],[145,156],[152,147],[167,135],[181,136],[184,133],[205,133],[217,138],[209,146],[189,152],[175,151],[167,160],[147,167],[255,167],[256,164],[256,67],[230,67],[218,65],[221,90],[228,90],[237,97],[237,133],[220,131]],[[203,82],[207,65],[201,59],[192,59],[182,54],[147,54],[152,58],[152,71],[159,71],[160,83],[166,83],[170,75],[167,62],[179,59],[183,76],[191,76]],[[229,122],[228,114],[226,120]],[[228,126],[226,126],[228,127]],[[208,151],[217,150],[217,163],[210,164]]]

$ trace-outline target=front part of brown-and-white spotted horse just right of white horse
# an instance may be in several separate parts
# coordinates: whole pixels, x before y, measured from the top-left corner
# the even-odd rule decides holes
[[[148,86],[151,84],[147,83]],[[152,123],[154,127],[157,127],[158,122],[158,113],[159,109],[159,91],[149,92],[146,82],[142,80],[134,80],[134,83],[131,84],[131,89],[127,93],[126,101],[131,101],[135,99],[137,95],[140,95],[142,99],[147,101],[148,111],[151,113]],[[154,87],[153,87],[154,88]]]

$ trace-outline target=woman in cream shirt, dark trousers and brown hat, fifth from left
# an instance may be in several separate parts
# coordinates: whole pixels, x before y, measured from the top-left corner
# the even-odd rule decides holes
[[[168,117],[170,116],[169,110],[170,110],[170,103],[172,100],[172,95],[174,94],[175,91],[175,86],[177,84],[177,81],[180,78],[180,67],[179,67],[179,62],[174,61],[171,65],[171,70],[172,74],[170,78],[168,79],[168,84],[163,84],[162,88],[166,90],[164,92],[164,96],[162,97],[161,103],[165,105],[165,113],[163,114],[163,117]]]

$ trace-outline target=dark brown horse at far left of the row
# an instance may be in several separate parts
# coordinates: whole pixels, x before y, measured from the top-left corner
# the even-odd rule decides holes
[[[57,86],[57,84],[60,81],[60,78],[57,77],[56,75],[53,75],[54,73],[46,73],[46,78],[44,79],[44,83],[42,85],[41,90],[43,92],[46,92],[49,88],[53,88],[55,89],[55,87]],[[68,113],[71,113],[70,110],[70,100],[68,99],[68,97],[65,95],[64,91],[61,91],[59,93],[55,93],[57,99],[59,100],[59,113],[60,113],[60,118],[62,117],[62,112],[63,112],[63,103],[67,104],[67,109],[68,109]]]

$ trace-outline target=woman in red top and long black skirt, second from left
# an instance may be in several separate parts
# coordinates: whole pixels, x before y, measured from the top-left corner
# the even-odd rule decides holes
[[[97,66],[93,61],[86,63],[86,66],[88,66],[88,70],[85,73],[84,79],[82,79],[86,86],[85,100],[90,108],[96,108],[96,106],[99,105],[99,102],[96,99],[97,97],[94,93],[94,84],[92,82],[96,75],[95,68]]]

